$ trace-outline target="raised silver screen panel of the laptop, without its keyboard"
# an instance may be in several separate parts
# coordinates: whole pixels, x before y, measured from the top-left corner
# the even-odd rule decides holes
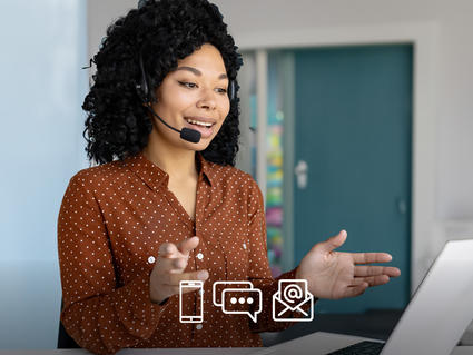
[[[472,319],[473,239],[447,241],[381,354],[450,354]]]

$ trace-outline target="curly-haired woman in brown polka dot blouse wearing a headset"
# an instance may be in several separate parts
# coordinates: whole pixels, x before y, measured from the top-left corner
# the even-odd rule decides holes
[[[292,324],[272,317],[278,279],[342,298],[400,275],[356,265],[390,262],[387,254],[333,252],[341,231],[272,278],[262,194],[234,168],[242,60],[217,7],[142,2],[108,29],[93,62],[83,109],[87,152],[100,165],[71,178],[58,220],[61,321],[80,346],[260,346],[258,332]],[[181,280],[204,286],[179,295]],[[229,280],[262,290],[257,322],[213,302],[214,283]],[[256,304],[243,307],[257,313]]]

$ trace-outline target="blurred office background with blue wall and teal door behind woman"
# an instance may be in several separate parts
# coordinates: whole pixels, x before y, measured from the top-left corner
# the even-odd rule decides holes
[[[238,167],[265,195],[273,274],[345,228],[342,250],[403,274],[316,312],[403,309],[444,243],[473,237],[473,2],[214,2],[244,56]],[[89,166],[81,68],[136,6],[1,3],[0,348],[56,347],[57,215]]]

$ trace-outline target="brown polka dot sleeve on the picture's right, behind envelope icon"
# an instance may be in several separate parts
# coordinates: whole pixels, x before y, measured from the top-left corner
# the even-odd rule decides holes
[[[273,295],[278,289],[279,279],[294,279],[297,268],[280,275],[277,278],[272,277],[269,262],[267,257],[266,244],[266,217],[264,209],[263,194],[256,183],[253,181],[252,194],[248,204],[248,239],[249,248],[249,280],[255,288],[259,288],[263,294],[263,310],[258,314],[258,322],[249,321],[249,326],[253,332],[277,332],[284,331],[295,322],[275,322],[273,319]],[[305,312],[308,306],[302,307]],[[278,308],[276,308],[278,309]],[[285,317],[297,318],[302,315],[298,312],[285,314]]]

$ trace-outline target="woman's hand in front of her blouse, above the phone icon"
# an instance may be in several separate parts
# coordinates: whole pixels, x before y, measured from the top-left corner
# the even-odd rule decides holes
[[[206,280],[207,270],[184,273],[187,267],[190,250],[199,244],[198,237],[191,237],[183,240],[177,246],[173,243],[164,243],[159,247],[159,255],[156,259],[149,280],[149,296],[151,302],[160,304],[166,298],[179,294],[180,280]],[[189,293],[198,289],[183,289],[183,293]]]

